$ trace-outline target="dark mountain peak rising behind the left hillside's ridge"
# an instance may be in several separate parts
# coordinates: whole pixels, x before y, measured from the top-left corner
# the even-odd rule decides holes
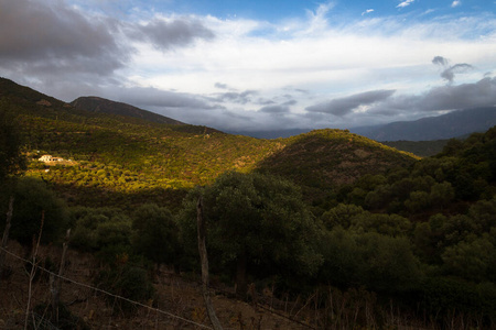
[[[148,110],[143,110],[127,103],[116,102],[99,97],[80,97],[72,101],[71,106],[87,111],[134,117],[157,123],[184,124],[181,121]]]

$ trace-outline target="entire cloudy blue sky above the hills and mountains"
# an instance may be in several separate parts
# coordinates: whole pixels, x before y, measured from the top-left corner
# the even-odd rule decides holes
[[[496,105],[495,0],[0,0],[0,77],[225,131]]]

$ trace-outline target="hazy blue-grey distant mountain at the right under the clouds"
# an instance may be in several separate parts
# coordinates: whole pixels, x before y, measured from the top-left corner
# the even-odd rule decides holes
[[[496,107],[485,107],[457,110],[416,121],[355,128],[351,131],[376,141],[428,141],[485,132],[494,125],[496,125]]]

